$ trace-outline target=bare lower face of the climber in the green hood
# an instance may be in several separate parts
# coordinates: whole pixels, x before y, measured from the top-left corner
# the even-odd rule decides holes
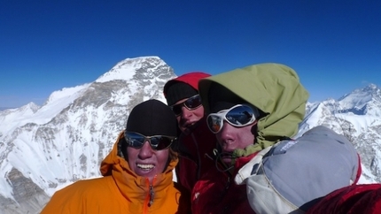
[[[223,121],[221,131],[215,134],[222,148],[222,152],[231,154],[235,149],[245,149],[247,146],[253,144],[255,136],[252,134],[252,127],[255,126],[255,124],[256,123],[243,127],[235,127]],[[222,156],[222,161],[230,165],[231,157]]]

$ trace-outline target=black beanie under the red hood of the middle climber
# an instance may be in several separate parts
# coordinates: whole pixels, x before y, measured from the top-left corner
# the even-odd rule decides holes
[[[179,100],[183,100],[184,98],[189,98],[195,95],[198,95],[198,91],[195,88],[191,87],[191,85],[182,81],[176,81],[167,88],[167,104],[174,105]]]

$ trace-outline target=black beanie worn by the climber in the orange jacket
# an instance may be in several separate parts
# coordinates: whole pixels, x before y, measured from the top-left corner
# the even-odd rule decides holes
[[[159,100],[137,104],[128,116],[126,131],[145,136],[177,136],[177,120],[174,111]]]

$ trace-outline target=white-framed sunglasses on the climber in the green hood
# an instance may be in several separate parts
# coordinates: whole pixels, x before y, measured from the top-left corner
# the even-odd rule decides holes
[[[245,104],[237,104],[229,110],[218,111],[217,113],[209,114],[206,118],[207,126],[214,134],[222,130],[223,120],[227,121],[231,126],[242,127],[252,124],[256,115],[259,115],[257,109]]]

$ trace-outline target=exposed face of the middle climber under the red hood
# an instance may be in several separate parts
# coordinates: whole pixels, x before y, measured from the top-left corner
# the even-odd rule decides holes
[[[175,104],[183,103],[187,99],[188,98],[179,100]],[[185,106],[183,106],[182,113],[179,114],[176,117],[176,119],[177,119],[177,123],[180,130],[184,134],[189,134],[191,132],[192,126],[194,126],[198,122],[198,120],[200,120],[203,117],[204,117],[204,107],[202,105],[200,105],[198,108],[193,110],[189,110]]]

